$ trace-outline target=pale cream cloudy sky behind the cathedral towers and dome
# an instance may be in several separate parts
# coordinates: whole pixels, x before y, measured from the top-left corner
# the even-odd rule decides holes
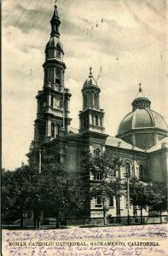
[[[43,87],[44,49],[50,37],[53,0],[2,1],[3,167],[27,162]],[[151,108],[168,123],[167,1],[58,0],[61,44],[71,91],[73,128],[78,128],[84,81],[92,67],[101,88],[106,133],[115,136],[131,112],[142,83]]]

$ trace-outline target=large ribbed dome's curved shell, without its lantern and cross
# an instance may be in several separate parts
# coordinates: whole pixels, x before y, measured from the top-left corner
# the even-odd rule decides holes
[[[137,108],[128,113],[119,125],[119,134],[124,134],[132,129],[158,128],[168,131],[168,127],[163,117],[150,108]]]

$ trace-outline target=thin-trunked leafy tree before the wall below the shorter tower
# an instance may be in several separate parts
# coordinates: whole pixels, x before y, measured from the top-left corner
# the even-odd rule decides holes
[[[83,163],[84,170],[94,176],[90,187],[90,198],[101,197],[103,222],[106,224],[107,198],[115,195],[118,199],[122,194],[119,179],[112,179],[113,176],[116,177],[116,172],[119,171],[121,162],[118,158],[113,158],[110,154],[107,154],[107,152],[100,154],[97,150],[94,154],[87,152],[83,157]],[[119,204],[117,205],[119,207]],[[120,217],[120,207],[117,212]]]

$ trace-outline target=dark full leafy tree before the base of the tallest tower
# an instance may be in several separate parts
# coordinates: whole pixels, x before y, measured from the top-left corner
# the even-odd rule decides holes
[[[79,211],[84,207],[84,193],[75,179],[68,177],[62,164],[55,162],[50,154],[42,161],[42,172],[38,175],[37,194],[41,209],[49,208],[55,213],[56,226],[59,227],[61,214],[72,209]]]

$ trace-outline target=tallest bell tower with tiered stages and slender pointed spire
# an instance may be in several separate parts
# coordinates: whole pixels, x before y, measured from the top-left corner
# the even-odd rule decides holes
[[[35,143],[49,142],[60,134],[67,134],[71,122],[71,94],[64,84],[66,65],[59,32],[61,20],[56,5],[50,24],[50,39],[45,48],[43,63],[43,90],[39,90],[36,96],[38,113],[35,120]]]

